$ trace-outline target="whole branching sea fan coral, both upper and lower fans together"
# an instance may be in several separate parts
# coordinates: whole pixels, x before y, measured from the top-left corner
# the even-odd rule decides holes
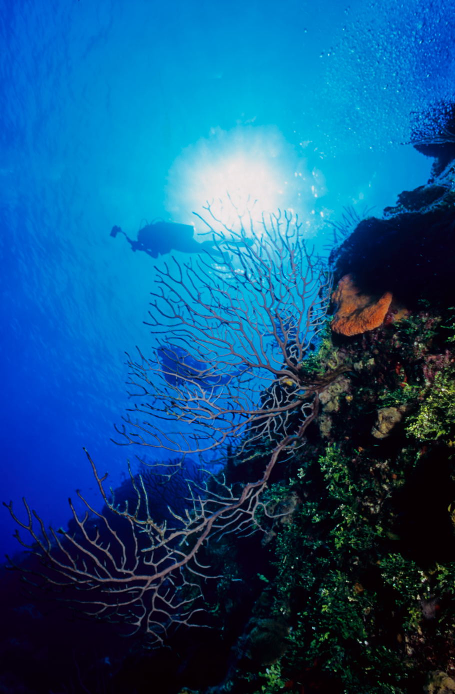
[[[264,489],[277,462],[302,443],[318,414],[318,393],[339,371],[311,382],[304,375],[302,362],[325,322],[330,277],[307,250],[298,220],[279,212],[258,225],[234,208],[236,228],[227,228],[210,205],[205,210],[223,263],[214,256],[173,260],[172,271],[159,271],[148,323],[155,353],[138,349],[128,360],[137,402],[118,428],[121,443],[178,458],[169,468],[151,466],[151,477],[130,473],[130,498],[116,500],[87,453],[105,506],[96,511],[78,492],[84,511],[69,500],[67,531],[47,530],[25,500],[25,521],[7,505],[31,537],[26,543],[18,531],[17,539],[40,559],[31,584],[62,591],[77,609],[158,643],[171,627],[200,625],[197,599],[215,577],[206,565],[208,543],[252,534],[280,515],[268,509]],[[258,457],[259,479],[231,486],[222,473],[205,468],[198,476],[193,467],[187,480],[179,478],[180,498],[154,514],[153,474],[169,483],[188,454],[203,466],[203,454],[214,449],[225,459],[231,451],[237,464]]]

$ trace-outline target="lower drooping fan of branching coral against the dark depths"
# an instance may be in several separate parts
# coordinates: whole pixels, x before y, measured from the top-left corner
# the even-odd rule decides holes
[[[307,418],[297,436],[304,433],[314,413]],[[105,502],[99,513],[78,492],[85,506],[78,514],[73,502],[69,506],[74,518],[73,532],[52,528],[46,530],[42,518],[31,510],[24,499],[26,521],[21,521],[10,504],[4,504],[13,520],[31,536],[26,543],[19,530],[19,543],[40,559],[40,570],[20,568],[32,586],[53,591],[76,609],[89,616],[121,622],[130,627],[130,633],[141,630],[152,643],[163,643],[169,629],[178,625],[200,625],[196,615],[203,611],[197,599],[202,595],[203,583],[213,575],[209,566],[200,562],[200,550],[209,540],[225,534],[248,535],[259,528],[257,511],[262,509],[267,518],[267,504],[261,500],[266,482],[280,453],[291,443],[286,437],[275,448],[260,480],[243,486],[235,494],[222,478],[212,484],[192,488],[188,506],[181,516],[174,513],[173,523],[156,523],[146,503],[146,514],[141,504],[144,486],[139,477],[132,477],[137,493],[135,510],[113,504],[105,492],[94,462],[96,482]],[[192,578],[193,577],[193,578]],[[63,589],[67,589],[63,591]],[[56,592],[55,592],[56,591]]]

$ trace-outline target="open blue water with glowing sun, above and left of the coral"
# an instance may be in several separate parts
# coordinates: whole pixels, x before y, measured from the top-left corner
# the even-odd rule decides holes
[[[0,498],[65,525],[115,484],[125,350],[150,342],[153,259],[109,235],[192,223],[241,187],[323,248],[429,176],[411,113],[453,97],[452,1],[3,0]],[[143,223],[143,222],[142,222]],[[166,256],[159,257],[160,266]],[[17,548],[8,512],[1,554]]]

